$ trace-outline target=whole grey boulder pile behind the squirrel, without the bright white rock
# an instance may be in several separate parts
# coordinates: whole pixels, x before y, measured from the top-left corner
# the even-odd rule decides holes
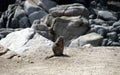
[[[30,27],[39,36],[52,41],[64,36],[68,47],[86,44],[120,46],[120,16],[118,12],[109,9],[109,4],[101,6],[99,2],[85,0],[90,4],[88,7],[85,2],[77,0],[73,4],[61,4],[59,1],[26,0],[9,5],[1,15],[0,28],[10,30],[5,32],[5,29],[1,29],[3,33],[0,33],[0,37],[5,37],[16,28]],[[100,3],[104,3],[103,0]]]

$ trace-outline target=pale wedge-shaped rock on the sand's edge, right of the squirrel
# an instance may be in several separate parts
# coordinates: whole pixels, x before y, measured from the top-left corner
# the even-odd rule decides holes
[[[103,37],[97,33],[89,33],[79,38],[72,40],[69,47],[79,47],[86,44],[91,44],[92,46],[100,46]]]

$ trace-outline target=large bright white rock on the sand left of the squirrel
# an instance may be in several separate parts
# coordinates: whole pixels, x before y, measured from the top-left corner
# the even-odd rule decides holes
[[[44,38],[31,28],[16,31],[8,34],[6,38],[0,40],[0,44],[17,54],[22,55],[25,51],[39,46],[51,46],[52,41]]]

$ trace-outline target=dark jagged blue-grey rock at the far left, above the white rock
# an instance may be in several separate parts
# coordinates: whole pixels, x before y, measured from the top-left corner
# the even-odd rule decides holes
[[[1,17],[1,27],[25,28],[30,26],[29,19],[21,4],[9,5],[8,10]]]

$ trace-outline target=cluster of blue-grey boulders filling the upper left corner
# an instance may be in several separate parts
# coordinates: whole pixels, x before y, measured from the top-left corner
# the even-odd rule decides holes
[[[26,0],[9,5],[8,9],[1,15],[0,27],[30,27],[34,20],[47,15],[48,10],[54,6],[56,3],[49,0]]]

